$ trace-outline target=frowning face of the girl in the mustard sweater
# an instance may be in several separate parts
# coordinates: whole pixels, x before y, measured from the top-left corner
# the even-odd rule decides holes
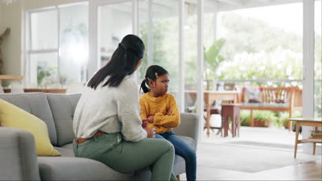
[[[168,92],[169,87],[169,75],[160,75],[157,80],[149,82],[151,91],[154,95],[162,96]]]

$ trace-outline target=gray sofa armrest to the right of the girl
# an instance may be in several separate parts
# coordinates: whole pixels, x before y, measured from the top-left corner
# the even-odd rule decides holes
[[[199,135],[199,117],[194,113],[181,113],[180,126],[173,129],[175,134],[180,136],[189,136],[195,140],[195,148],[197,148]]]

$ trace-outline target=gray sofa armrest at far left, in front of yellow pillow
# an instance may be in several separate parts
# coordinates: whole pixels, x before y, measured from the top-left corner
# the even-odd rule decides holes
[[[0,127],[0,180],[40,180],[34,136]]]

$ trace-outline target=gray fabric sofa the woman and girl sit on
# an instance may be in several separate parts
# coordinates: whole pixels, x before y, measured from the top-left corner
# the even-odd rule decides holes
[[[47,124],[50,141],[61,156],[36,156],[32,134],[0,127],[0,180],[149,180],[149,168],[119,173],[101,162],[75,158],[72,151],[72,121],[81,94],[8,93],[0,99],[34,114]],[[198,117],[182,113],[175,134],[197,147]],[[184,159],[175,156],[174,172],[185,172]]]

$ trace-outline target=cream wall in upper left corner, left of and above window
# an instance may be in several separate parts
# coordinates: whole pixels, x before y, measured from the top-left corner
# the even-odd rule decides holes
[[[0,3],[0,32],[10,27],[10,35],[3,43],[3,71],[7,75],[23,75],[23,42],[24,29],[23,21],[25,11],[45,8],[52,5],[76,3],[83,0],[28,0],[14,1],[9,5]],[[8,82],[3,82],[3,86]]]

